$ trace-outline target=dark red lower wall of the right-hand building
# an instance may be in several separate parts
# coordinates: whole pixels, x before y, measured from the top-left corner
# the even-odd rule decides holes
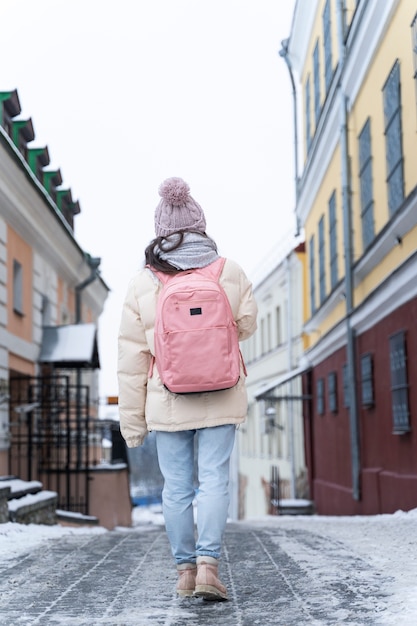
[[[345,406],[343,386],[338,386],[338,409],[331,412],[328,394],[324,413],[319,414],[317,398],[312,405],[314,441],[311,456],[314,470],[310,472],[311,489],[317,510],[321,514],[375,515],[393,513],[416,506],[417,494],[417,434],[416,430],[399,435],[394,433],[392,418],[391,370],[389,338],[398,330],[407,329],[408,377],[416,380],[417,361],[412,358],[417,350],[417,298],[398,307],[357,338],[357,362],[371,354],[373,361],[374,401],[367,406],[362,400],[358,380],[360,440],[361,440],[361,499],[351,496],[351,463],[347,453],[350,440],[349,411]],[[346,363],[344,348],[335,351],[312,372],[312,388],[319,378],[326,379],[335,371],[342,381]],[[382,381],[382,384],[378,384]],[[417,390],[409,387],[409,410],[417,415]],[[325,447],[323,445],[325,442]]]

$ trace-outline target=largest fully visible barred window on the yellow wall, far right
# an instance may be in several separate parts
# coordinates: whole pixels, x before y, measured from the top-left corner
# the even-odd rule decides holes
[[[404,199],[400,64],[397,61],[383,88],[388,207],[394,215]]]

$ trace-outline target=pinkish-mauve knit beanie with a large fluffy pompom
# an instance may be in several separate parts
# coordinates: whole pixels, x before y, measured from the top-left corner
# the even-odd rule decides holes
[[[155,210],[155,234],[168,237],[179,230],[206,231],[203,209],[190,195],[182,178],[167,178],[159,186],[161,200]]]

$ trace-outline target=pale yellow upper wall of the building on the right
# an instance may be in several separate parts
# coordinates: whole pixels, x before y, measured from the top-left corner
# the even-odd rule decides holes
[[[307,49],[307,56],[304,66],[302,68],[302,89],[305,89],[305,77],[312,76],[312,49],[317,41],[321,42],[322,26],[321,26],[321,10],[323,2],[317,2],[316,4],[316,16],[313,22],[313,31],[311,32],[310,46]],[[373,4],[373,3],[370,3]],[[362,223],[361,223],[361,206],[360,206],[360,189],[359,189],[359,154],[358,154],[358,135],[363,128],[365,121],[370,118],[372,125],[372,168],[374,177],[374,220],[375,220],[375,237],[386,227],[390,221],[390,215],[388,212],[388,196],[386,185],[386,148],[385,148],[385,130],[384,130],[384,110],[383,110],[383,96],[382,88],[385,84],[387,76],[392,69],[393,64],[398,61],[400,63],[401,71],[401,100],[403,111],[403,154],[404,154],[404,182],[405,182],[405,196],[407,196],[415,188],[417,184],[417,172],[414,167],[415,160],[417,158],[417,142],[415,141],[416,132],[416,81],[413,78],[413,50],[412,50],[412,37],[410,24],[415,16],[415,6],[410,1],[404,1],[400,3],[392,2],[392,14],[390,15],[390,21],[381,32],[381,37],[375,42],[375,51],[372,59],[372,66],[368,69],[364,76],[364,80],[357,93],[352,96],[347,93],[348,99],[348,145],[349,145],[349,166],[351,167],[351,189],[350,195],[352,203],[352,234],[353,234],[353,261],[357,261],[363,254],[362,244]],[[330,6],[335,6],[335,3],[330,3]],[[335,11],[333,11],[332,23],[336,21]],[[376,16],[373,20],[380,20],[381,18]],[[371,23],[372,26],[372,23]],[[406,35],[406,36],[405,36]],[[322,46],[319,45],[319,50],[322,50]],[[356,61],[355,61],[356,62]],[[321,64],[323,60],[321,59]],[[353,63],[353,62],[352,62]],[[323,79],[320,81],[321,93],[322,93],[322,107],[323,98],[326,96],[324,91]],[[354,98],[349,101],[349,97]],[[335,98],[333,103],[333,109],[337,110],[338,100]],[[322,109],[322,117],[319,124],[321,126],[331,127],[332,114],[330,111],[326,115],[325,108]],[[314,115],[312,115],[313,119]],[[313,132],[315,131],[315,125],[312,124]],[[331,294],[330,278],[329,278],[329,238],[328,238],[328,201],[333,191],[336,192],[336,222],[337,222],[337,258],[338,258],[338,276],[343,279],[345,275],[344,270],[344,237],[343,237],[343,213],[342,213],[342,180],[341,180],[341,155],[340,144],[338,135],[340,128],[338,125],[334,125],[330,128],[333,136],[331,146],[334,146],[333,150],[328,150],[330,153],[327,155],[328,163],[326,167],[321,168],[319,176],[319,184],[317,191],[313,197],[310,197],[308,201],[308,208],[306,209],[306,217],[304,221],[305,239],[307,246],[311,241],[312,235],[314,235],[315,241],[315,273],[314,277],[310,276],[310,269],[308,269],[307,281],[310,284],[314,279],[315,291],[316,291],[316,307],[319,308],[322,302],[319,298],[319,263],[318,263],[318,224],[322,216],[324,216],[325,223],[325,268],[326,268],[326,297]],[[319,136],[316,141],[320,143],[321,137]],[[324,140],[324,138],[323,138]],[[327,144],[326,144],[327,147]],[[317,151],[318,149],[316,149]],[[310,155],[310,160],[315,160],[315,155]],[[312,169],[312,167],[310,167]],[[306,171],[305,177],[308,179],[309,171]],[[376,183],[378,181],[378,184]],[[308,180],[303,181],[304,186],[307,186]],[[361,281],[356,284],[354,298],[355,303],[360,303],[364,300],[372,290],[380,284],[386,276],[390,274],[393,267],[398,267],[408,257],[413,250],[414,240],[417,236],[415,227],[410,229],[406,237],[402,240],[403,245],[399,248],[393,247],[390,255],[386,255],[386,258],[378,263],[378,266],[373,269],[369,275],[366,276],[366,281]],[[309,307],[307,310],[307,318],[310,319],[313,315],[311,310],[311,303],[308,302]],[[343,307],[333,305],[325,316],[316,320],[315,330],[316,333],[310,337],[310,344],[314,344],[318,340],[320,335],[326,333],[332,328],[340,319],[343,319]]]

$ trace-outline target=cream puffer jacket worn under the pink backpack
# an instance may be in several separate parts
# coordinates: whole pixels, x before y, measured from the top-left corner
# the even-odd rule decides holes
[[[226,260],[220,284],[230,300],[239,341],[256,330],[257,305],[242,268]],[[245,373],[232,389],[180,395],[161,383],[157,368],[148,378],[154,354],[155,311],[161,282],[144,268],[130,281],[118,337],[120,430],[129,448],[140,446],[148,431],[192,430],[240,424],[247,414]]]

